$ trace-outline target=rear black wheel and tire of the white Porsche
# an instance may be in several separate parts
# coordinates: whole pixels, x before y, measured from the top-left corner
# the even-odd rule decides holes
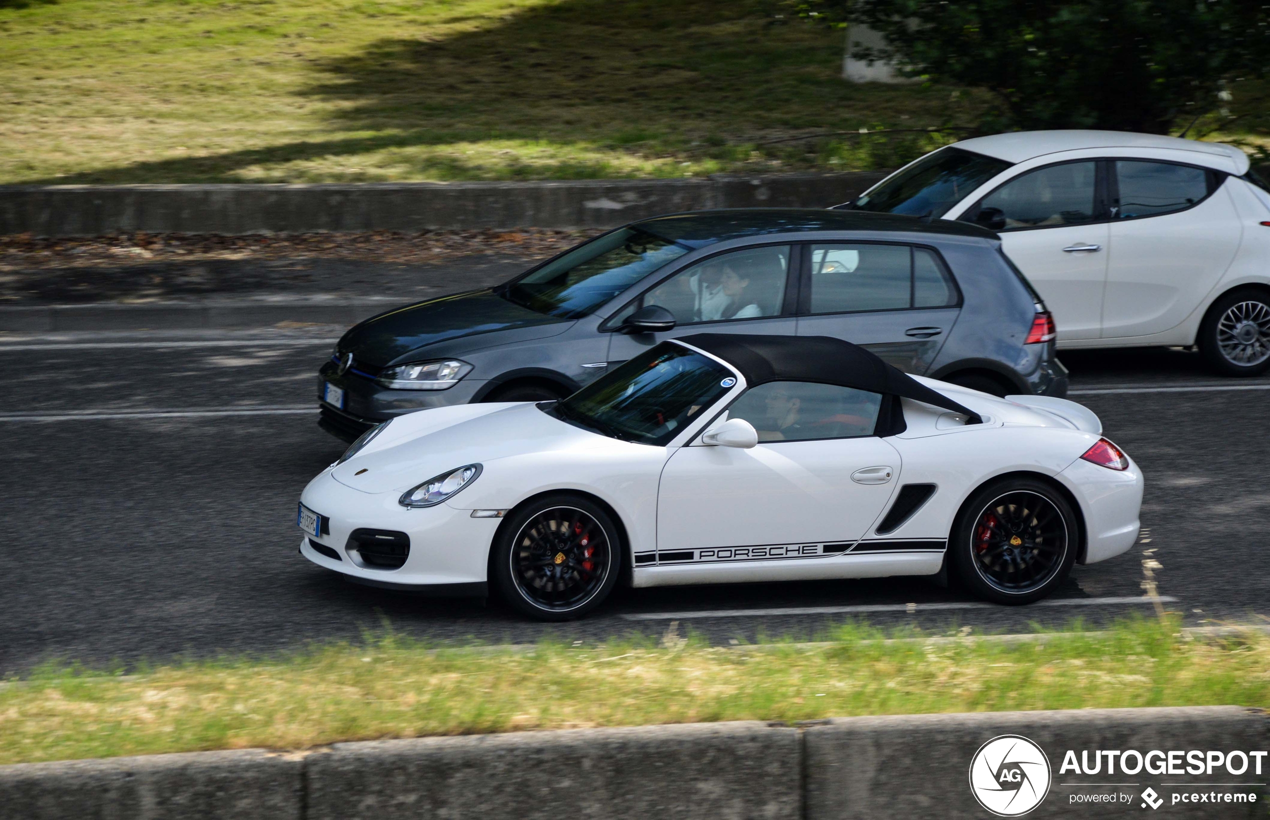
[[[1078,546],[1078,519],[1058,490],[1006,477],[966,501],[952,526],[949,559],[980,598],[1030,604],[1067,580]]]

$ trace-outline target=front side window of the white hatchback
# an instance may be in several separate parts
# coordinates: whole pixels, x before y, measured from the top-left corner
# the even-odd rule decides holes
[[[1092,222],[1096,169],[1092,161],[1063,162],[1016,176],[984,197],[977,221],[1005,220],[1005,231]]]

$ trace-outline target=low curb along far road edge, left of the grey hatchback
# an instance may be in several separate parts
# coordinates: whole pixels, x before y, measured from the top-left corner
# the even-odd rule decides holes
[[[208,300],[145,305],[48,305],[0,307],[0,331],[243,330],[279,322],[351,326],[411,300],[381,297],[323,301]],[[419,301],[419,300],[413,300]]]

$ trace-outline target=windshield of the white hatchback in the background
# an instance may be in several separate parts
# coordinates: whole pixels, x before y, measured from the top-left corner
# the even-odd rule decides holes
[[[970,192],[1010,168],[1010,162],[961,149],[930,154],[880,187],[856,199],[851,208],[878,213],[907,213],[940,218]]]

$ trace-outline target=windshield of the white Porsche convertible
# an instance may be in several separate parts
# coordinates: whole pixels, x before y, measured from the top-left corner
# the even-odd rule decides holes
[[[663,343],[546,407],[561,421],[636,444],[665,444],[737,383],[723,364]]]

